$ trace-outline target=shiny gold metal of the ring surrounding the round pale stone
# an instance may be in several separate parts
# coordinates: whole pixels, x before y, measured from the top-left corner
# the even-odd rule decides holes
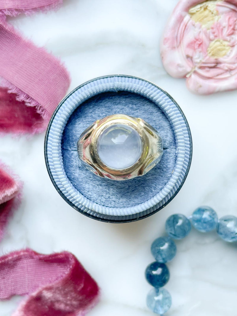
[[[97,150],[100,135],[108,127],[116,124],[127,125],[141,137],[142,153],[134,165],[127,169],[112,169],[101,160]],[[147,122],[124,114],[114,114],[95,121],[81,135],[77,143],[79,158],[97,176],[112,180],[128,180],[142,176],[161,160],[162,140],[158,132]]]

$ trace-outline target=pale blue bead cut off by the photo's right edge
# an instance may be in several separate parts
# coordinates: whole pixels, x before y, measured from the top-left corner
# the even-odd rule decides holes
[[[226,215],[219,219],[216,226],[217,234],[225,241],[237,240],[237,217]]]

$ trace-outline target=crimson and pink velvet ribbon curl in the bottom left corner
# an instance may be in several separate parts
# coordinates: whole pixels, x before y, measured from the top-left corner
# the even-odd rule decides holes
[[[30,249],[0,258],[0,289],[0,299],[29,295],[13,316],[82,316],[99,296],[98,285],[70,252]]]

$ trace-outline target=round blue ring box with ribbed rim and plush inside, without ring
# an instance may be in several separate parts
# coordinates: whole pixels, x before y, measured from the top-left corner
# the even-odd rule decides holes
[[[161,161],[143,176],[100,178],[80,161],[77,141],[97,119],[139,117],[163,140]],[[164,90],[144,79],[111,75],[83,83],[58,105],[46,131],[45,160],[59,194],[77,211],[104,222],[131,222],[154,214],[179,192],[192,156],[187,120]]]

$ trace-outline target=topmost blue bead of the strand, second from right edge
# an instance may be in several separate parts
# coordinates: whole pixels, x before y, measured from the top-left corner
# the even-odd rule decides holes
[[[198,207],[191,217],[191,223],[199,232],[210,232],[216,229],[218,216],[216,212],[209,206]]]

